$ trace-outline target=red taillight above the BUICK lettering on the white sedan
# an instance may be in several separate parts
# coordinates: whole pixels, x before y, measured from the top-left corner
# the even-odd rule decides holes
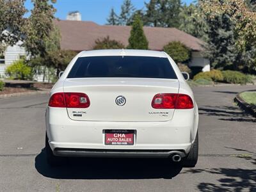
[[[52,108],[88,108],[90,99],[85,93],[54,93],[48,106]]]

